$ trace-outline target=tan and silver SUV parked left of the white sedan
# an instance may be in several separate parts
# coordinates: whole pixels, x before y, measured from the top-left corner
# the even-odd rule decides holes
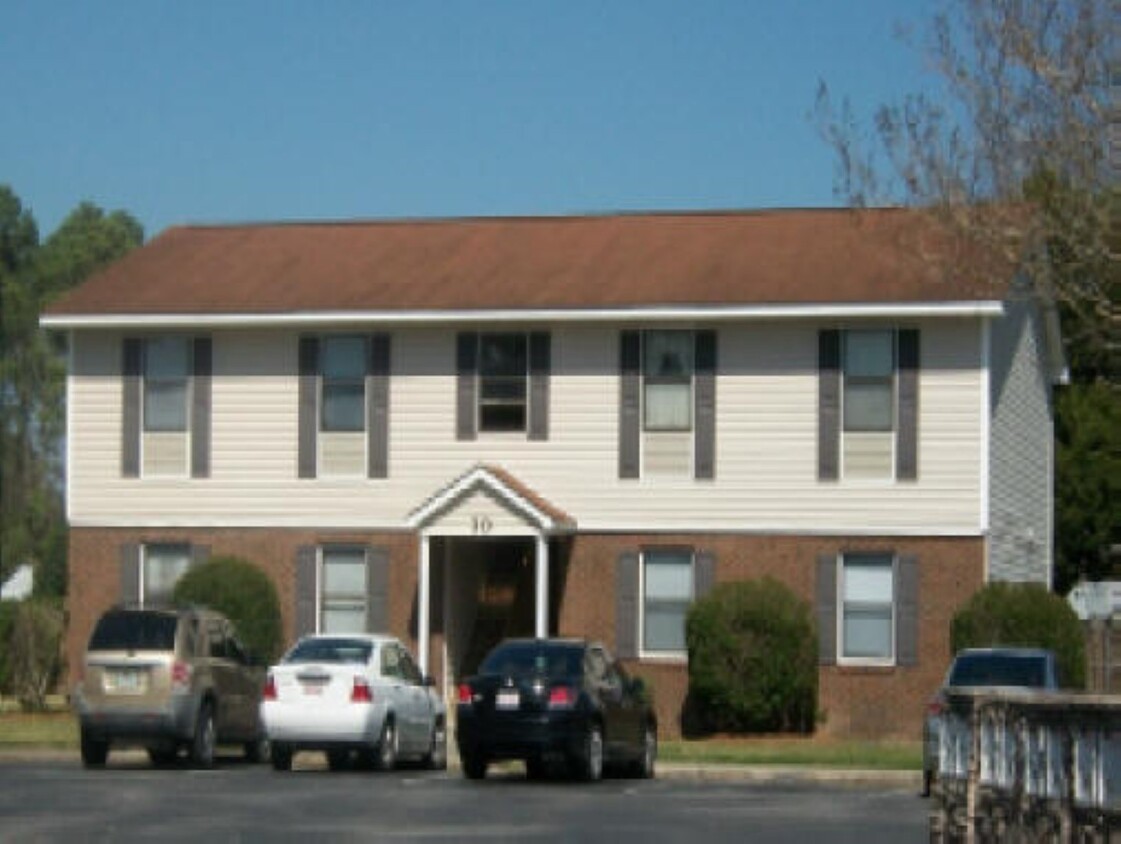
[[[156,764],[187,750],[209,768],[216,744],[258,760],[265,668],[250,659],[229,619],[204,609],[114,609],[98,621],[75,707],[82,762],[101,767],[110,745],[139,745]]]

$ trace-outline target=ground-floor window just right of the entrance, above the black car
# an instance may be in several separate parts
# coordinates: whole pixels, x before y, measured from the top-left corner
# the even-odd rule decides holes
[[[642,656],[684,656],[685,615],[693,603],[693,550],[648,548],[641,557]]]

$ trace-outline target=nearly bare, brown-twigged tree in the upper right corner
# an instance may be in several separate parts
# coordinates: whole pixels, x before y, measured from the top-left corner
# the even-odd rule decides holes
[[[1080,352],[1108,351],[1119,297],[1119,163],[1109,142],[1119,119],[1117,0],[938,6],[919,47],[930,91],[881,105],[870,135],[822,85],[837,193],[856,206],[928,208],[986,253],[1027,261]]]

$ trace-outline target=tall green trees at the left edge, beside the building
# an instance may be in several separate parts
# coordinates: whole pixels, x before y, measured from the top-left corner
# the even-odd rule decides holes
[[[82,203],[40,243],[31,213],[0,185],[0,579],[31,562],[37,595],[66,587],[65,350],[39,313],[142,240],[127,213]]]

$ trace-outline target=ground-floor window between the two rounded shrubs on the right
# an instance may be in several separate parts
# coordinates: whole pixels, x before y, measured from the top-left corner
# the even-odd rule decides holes
[[[895,664],[895,558],[890,554],[844,554],[839,575],[841,661]]]

